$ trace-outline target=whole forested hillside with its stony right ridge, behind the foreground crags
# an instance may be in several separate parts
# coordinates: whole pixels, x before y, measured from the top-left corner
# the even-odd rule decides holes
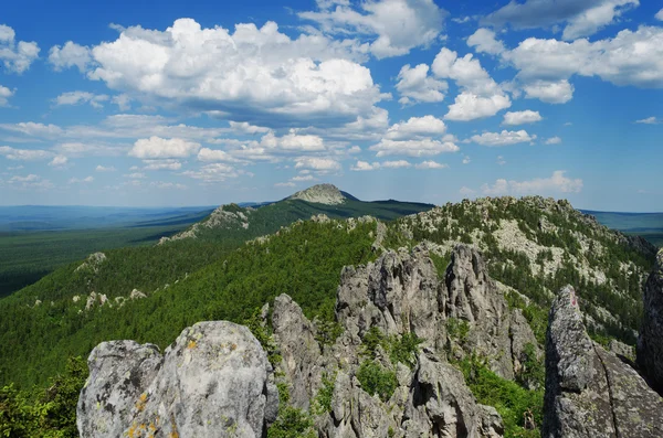
[[[420,213],[387,223],[329,218],[372,212],[389,220],[412,210]],[[415,245],[430,253],[440,278],[456,244],[480,249],[508,306],[522,309],[539,349],[554,291],[566,284],[577,285],[596,340],[634,343],[642,281],[655,257],[645,241],[610,231],[566,201],[536,196],[423,210],[422,204],[352,200],[340,205],[285,200],[260,209],[233,204],[159,245],[115,249],[59,269],[0,300],[0,386],[43,387],[64,371],[67,357],[85,357],[105,340],[131,339],[164,349],[198,321],[229,320],[256,329],[260,308],[281,293],[314,321],[318,342],[333,342],[341,330],[334,311],[341,268]],[[299,221],[305,215],[315,217]],[[294,223],[281,227],[288,221]],[[462,321],[456,325],[449,331],[462,341],[466,328]],[[270,342],[269,333],[259,339]],[[540,370],[541,359],[529,357]],[[481,403],[522,402],[520,410],[509,414],[513,430],[520,430],[517,420],[532,403],[540,413],[536,386],[501,380],[470,359],[459,366]]]

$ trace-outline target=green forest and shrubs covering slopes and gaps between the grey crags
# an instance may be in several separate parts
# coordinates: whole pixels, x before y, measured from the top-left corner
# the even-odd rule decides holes
[[[613,338],[634,342],[642,280],[651,269],[652,255],[638,252],[570,205],[560,202],[558,210],[543,211],[532,200],[504,204],[493,200],[487,207],[448,204],[430,212],[439,220],[431,227],[421,215],[402,217],[412,210],[428,210],[424,204],[365,204],[369,203],[352,202],[349,210],[302,201],[257,210],[228,205],[224,211],[242,212],[249,217],[248,228],[202,226],[197,238],[106,250],[106,258],[98,264],[84,264],[84,257],[80,257],[1,299],[0,436],[76,436],[73,421],[77,391],[86,375],[84,357],[102,341],[131,339],[165,349],[183,328],[203,320],[245,323],[255,332],[252,321],[256,309],[281,293],[290,295],[308,318],[317,319],[319,327],[328,330],[320,334],[323,338],[335,339],[338,327],[334,308],[341,268],[367,264],[381,254],[373,245],[375,221],[348,222],[344,217],[380,213],[381,209],[381,217],[388,221],[382,243],[387,248],[413,247],[423,241],[477,245],[491,276],[519,292],[508,293],[507,301],[523,309],[539,343],[544,343],[552,292],[566,284],[579,288],[581,307],[589,314],[598,314],[593,310],[602,308],[618,317],[619,324],[602,321],[603,328],[593,331],[592,336],[602,342]],[[302,221],[320,212],[339,220]],[[541,227],[543,217],[557,231]],[[503,221],[516,221],[527,238],[548,249],[530,260],[525,253],[503,248],[494,237]],[[255,238],[264,235],[269,236]],[[602,256],[597,256],[585,241],[600,245]],[[543,266],[552,258],[550,248],[561,249],[564,257],[556,274],[547,276]],[[443,276],[449,255],[433,254],[432,258]],[[606,281],[599,285],[587,279],[580,261],[600,268]],[[624,275],[624,264],[631,267],[631,274]],[[135,289],[145,298],[131,299]],[[462,324],[452,332],[462,338]],[[255,333],[270,352],[269,333]],[[358,378],[373,394],[388,396],[393,376],[375,366],[371,349],[379,344],[394,363],[412,366],[418,342],[383,339],[379,333],[368,336],[364,340],[367,361]],[[537,381],[543,378],[539,365],[529,366]],[[536,436],[524,435],[518,419],[524,409],[533,409],[540,418],[540,391],[499,380],[480,359],[456,366],[480,402],[494,405],[503,415],[511,430],[507,436]],[[320,399],[319,404],[324,408],[327,402]],[[311,425],[307,413],[285,409],[270,436],[297,436],[293,430],[303,434]]]

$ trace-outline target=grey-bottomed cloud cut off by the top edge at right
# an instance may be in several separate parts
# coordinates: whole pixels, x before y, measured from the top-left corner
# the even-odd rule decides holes
[[[639,0],[527,0],[511,1],[485,17],[482,22],[496,26],[507,23],[515,29],[551,28],[566,23],[562,38],[589,36],[640,4]]]

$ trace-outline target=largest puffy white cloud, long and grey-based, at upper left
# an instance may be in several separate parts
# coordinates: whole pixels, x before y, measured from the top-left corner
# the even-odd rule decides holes
[[[179,19],[165,31],[126,28],[92,47],[93,62],[84,65],[88,78],[151,105],[215,110],[260,126],[339,125],[369,115],[383,98],[350,49],[322,35],[291,39],[274,22],[236,24],[230,33]]]

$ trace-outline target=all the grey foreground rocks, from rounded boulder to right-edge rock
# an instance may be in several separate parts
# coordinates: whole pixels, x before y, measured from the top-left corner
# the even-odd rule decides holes
[[[638,350],[654,385],[663,368],[662,269],[660,254]],[[502,290],[475,249],[456,247],[439,278],[427,247],[419,246],[343,270],[336,339],[325,339],[326,331],[286,295],[276,298],[271,318],[263,309],[274,343],[266,348],[280,354],[275,370],[265,345],[230,322],[186,329],[164,355],[150,344],[105,342],[88,359],[78,430],[99,438],[263,437],[285,403],[315,413],[312,427],[319,437],[501,437],[499,414],[476,402],[452,363],[482,357],[495,374],[516,380],[528,355],[543,356]],[[394,361],[382,344],[369,342],[378,333],[412,336],[418,348]],[[544,437],[663,436],[663,399],[625,355],[591,341],[571,287],[555,300],[545,353]],[[367,367],[392,375],[391,391],[369,389],[360,378]],[[288,397],[280,400],[276,386]],[[325,391],[328,406],[320,409]]]

